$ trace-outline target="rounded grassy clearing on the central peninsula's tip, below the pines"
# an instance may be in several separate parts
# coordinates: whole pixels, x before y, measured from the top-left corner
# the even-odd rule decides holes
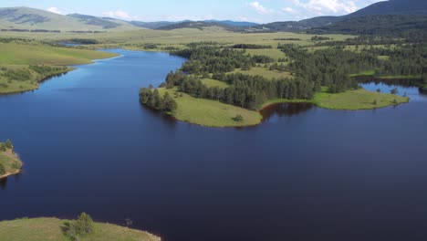
[[[174,89],[159,89],[161,95],[169,92],[175,97]],[[180,93],[181,95],[181,93]],[[210,127],[239,127],[256,125],[262,121],[262,116],[252,110],[245,110],[232,105],[226,105],[215,100],[196,99],[182,93],[175,98],[178,108],[173,116],[179,121]],[[242,115],[243,121],[234,121],[236,115]]]

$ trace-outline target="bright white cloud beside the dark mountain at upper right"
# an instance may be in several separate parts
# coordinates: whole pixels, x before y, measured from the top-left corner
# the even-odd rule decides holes
[[[312,13],[320,14],[349,14],[358,7],[353,1],[345,0],[309,0],[307,3],[302,3],[299,0],[294,0],[295,4],[303,7]]]

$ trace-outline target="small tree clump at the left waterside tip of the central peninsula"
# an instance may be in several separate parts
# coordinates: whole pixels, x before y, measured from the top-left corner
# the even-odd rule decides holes
[[[161,97],[158,89],[142,88],[140,91],[140,101],[143,105],[151,109],[172,112],[176,110],[177,103],[172,99],[171,95],[166,92]]]

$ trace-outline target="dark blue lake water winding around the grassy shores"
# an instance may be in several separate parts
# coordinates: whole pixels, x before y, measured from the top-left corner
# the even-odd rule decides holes
[[[123,57],[0,97],[0,137],[25,162],[3,183],[0,219],[130,217],[166,241],[427,239],[427,98],[416,89],[400,87],[416,101],[397,107],[284,104],[259,126],[211,129],[138,101],[184,59],[114,52]]]

